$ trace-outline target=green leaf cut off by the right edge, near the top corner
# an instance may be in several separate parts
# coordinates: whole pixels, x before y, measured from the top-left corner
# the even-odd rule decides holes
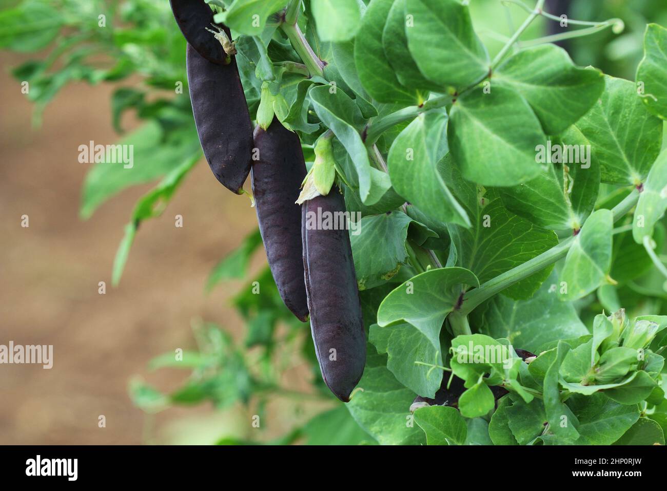
[[[667,29],[648,24],[644,34],[644,59],[637,67],[637,83],[644,84],[646,108],[667,120]]]

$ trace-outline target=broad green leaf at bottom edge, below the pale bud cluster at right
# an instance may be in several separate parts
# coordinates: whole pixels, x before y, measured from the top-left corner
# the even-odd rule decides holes
[[[568,406],[579,420],[577,445],[611,445],[639,418],[637,405],[620,404],[602,393],[574,394]]]

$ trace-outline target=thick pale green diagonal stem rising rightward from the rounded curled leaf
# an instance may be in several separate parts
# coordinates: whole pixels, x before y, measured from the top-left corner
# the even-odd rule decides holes
[[[638,199],[639,193],[634,190],[622,202],[614,206],[612,209],[614,221],[619,220],[624,214],[632,210]],[[506,271],[505,273],[502,273],[502,275],[498,275],[494,279],[482,284],[479,288],[471,290],[464,297],[464,302],[459,313],[461,315],[468,315],[478,307],[480,303],[490,299],[504,289],[511,287],[514,283],[526,279],[537,271],[556,263],[556,261],[567,255],[573,242],[574,237],[570,237],[548,251],[534,257],[530,261],[510,269],[510,271]]]

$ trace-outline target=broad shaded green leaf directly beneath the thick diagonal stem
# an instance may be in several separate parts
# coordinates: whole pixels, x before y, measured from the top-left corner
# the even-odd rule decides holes
[[[550,341],[587,334],[572,303],[558,300],[558,293],[552,289],[557,281],[556,273],[552,273],[528,300],[512,301],[496,295],[473,312],[471,323],[480,333],[509,339],[513,346],[532,353]]]

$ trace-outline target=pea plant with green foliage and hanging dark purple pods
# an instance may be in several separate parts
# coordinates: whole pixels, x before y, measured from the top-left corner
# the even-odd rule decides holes
[[[257,212],[207,282],[247,281],[243,345],[195,326],[198,351],[151,362],[190,369],[181,389],[132,383],[143,410],[241,401],[261,418],[271,397],[333,393],[344,403],[273,443],[665,443],[665,27],[641,26],[629,80],[554,44],[622,19],[545,0],[61,0],[37,29],[44,3],[0,11],[0,46],[53,46],[14,70],[37,115],[68,81],[144,77],[112,99],[119,132],[125,110],[145,120],[123,138],[134,168],[96,165],[83,188],[87,218],[161,178],[114,283],[201,150]],[[520,23],[482,32],[484,8]],[[269,268],[249,277],[262,244]],[[313,391],[279,383],[297,356]]]

